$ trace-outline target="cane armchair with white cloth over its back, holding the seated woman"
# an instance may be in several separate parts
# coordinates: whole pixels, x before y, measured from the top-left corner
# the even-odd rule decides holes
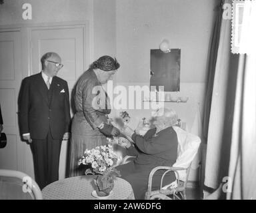
[[[195,134],[191,134],[178,126],[173,126],[177,133],[178,150],[177,160],[172,166],[157,166],[151,170],[145,199],[156,199],[170,196],[173,199],[187,199],[186,187],[189,178],[189,171],[195,155],[198,152],[201,139]],[[165,170],[161,178],[161,183],[158,190],[152,190],[152,178],[157,170]],[[176,180],[167,186],[163,186],[163,178],[168,172],[175,172]],[[159,197],[157,197],[157,194]]]

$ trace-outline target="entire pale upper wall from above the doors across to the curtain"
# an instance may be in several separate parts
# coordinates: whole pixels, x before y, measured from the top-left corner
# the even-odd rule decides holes
[[[181,92],[188,103],[175,108],[191,128],[197,103],[203,112],[207,53],[213,9],[218,0],[5,0],[0,5],[1,25],[89,21],[90,62],[101,55],[117,56],[118,85],[149,86],[150,49],[163,39],[181,49]],[[23,3],[31,3],[33,19],[22,19]],[[179,106],[179,107],[178,107]],[[115,114],[115,111],[113,111]],[[148,114],[131,110],[131,124]]]

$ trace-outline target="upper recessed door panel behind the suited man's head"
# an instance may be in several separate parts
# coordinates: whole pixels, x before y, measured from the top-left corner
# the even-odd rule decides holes
[[[62,27],[45,29],[33,29],[32,40],[32,72],[41,71],[40,59],[47,52],[58,53],[64,67],[58,76],[65,79],[69,89],[75,85],[75,81],[83,73],[83,27]]]

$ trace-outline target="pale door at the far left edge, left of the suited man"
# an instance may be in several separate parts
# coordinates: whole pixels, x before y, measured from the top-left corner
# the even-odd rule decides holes
[[[3,132],[7,146],[0,149],[0,169],[22,170],[18,152],[23,142],[19,136],[17,97],[21,85],[21,32],[0,31],[0,103]],[[22,152],[22,151],[21,151]]]

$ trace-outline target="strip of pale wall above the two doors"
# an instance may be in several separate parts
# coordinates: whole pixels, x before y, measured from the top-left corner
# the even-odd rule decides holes
[[[22,19],[24,3],[32,6],[32,20]],[[92,0],[9,0],[0,6],[0,25],[83,21],[92,14]]]

